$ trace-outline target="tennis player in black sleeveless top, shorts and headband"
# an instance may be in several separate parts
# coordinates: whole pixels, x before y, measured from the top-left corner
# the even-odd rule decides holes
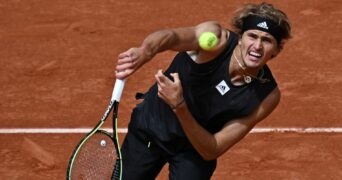
[[[217,158],[276,108],[280,91],[267,62],[291,36],[287,16],[271,4],[248,4],[232,25],[160,30],[119,55],[116,77],[124,79],[157,53],[178,51],[133,109],[122,146],[124,179],[155,179],[166,163],[169,179],[210,179]],[[219,37],[210,51],[197,41],[207,31]]]

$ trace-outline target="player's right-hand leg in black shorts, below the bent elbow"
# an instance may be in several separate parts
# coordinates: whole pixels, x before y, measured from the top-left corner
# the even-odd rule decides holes
[[[205,161],[194,150],[180,153],[169,161],[170,180],[209,180],[216,168],[216,160]]]

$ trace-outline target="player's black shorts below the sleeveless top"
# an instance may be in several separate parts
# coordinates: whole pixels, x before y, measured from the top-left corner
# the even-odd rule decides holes
[[[122,145],[123,179],[154,180],[169,163],[170,180],[207,180],[216,168],[216,160],[204,160],[194,149],[169,153],[170,144],[156,142],[145,133],[129,130]]]

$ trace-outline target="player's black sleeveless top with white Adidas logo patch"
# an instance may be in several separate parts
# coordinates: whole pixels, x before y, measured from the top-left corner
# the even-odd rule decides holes
[[[230,32],[226,49],[204,64],[195,63],[187,52],[179,52],[164,73],[169,78],[170,73],[179,73],[183,96],[191,114],[211,133],[218,132],[234,118],[250,114],[277,86],[267,65],[262,72],[268,82],[254,79],[242,86],[231,83],[229,62],[237,42],[238,35]],[[156,84],[134,111],[137,118],[132,120],[130,128],[142,130],[160,141],[185,138],[176,115],[158,97]]]

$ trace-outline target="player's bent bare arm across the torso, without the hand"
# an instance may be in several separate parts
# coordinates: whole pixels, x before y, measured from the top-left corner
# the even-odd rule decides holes
[[[271,114],[279,101],[280,91],[276,88],[252,114],[228,122],[216,134],[210,134],[202,128],[192,117],[186,104],[177,108],[175,113],[194,148],[204,159],[212,160],[245,137],[257,123]]]

